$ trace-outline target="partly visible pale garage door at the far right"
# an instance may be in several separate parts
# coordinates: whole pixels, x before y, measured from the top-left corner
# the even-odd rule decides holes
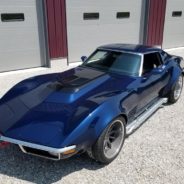
[[[184,46],[184,0],[167,0],[164,48]]]

